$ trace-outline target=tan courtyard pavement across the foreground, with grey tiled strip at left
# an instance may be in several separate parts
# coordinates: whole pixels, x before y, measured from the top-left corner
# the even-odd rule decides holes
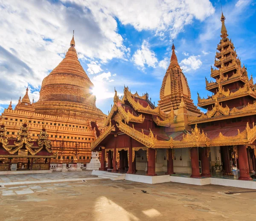
[[[0,178],[19,181],[17,176],[21,175]],[[83,172],[80,175],[79,172],[32,174],[21,178],[44,180],[48,176],[95,178]],[[225,194],[230,191],[250,190],[99,178],[0,187],[0,221],[255,221],[256,192]]]

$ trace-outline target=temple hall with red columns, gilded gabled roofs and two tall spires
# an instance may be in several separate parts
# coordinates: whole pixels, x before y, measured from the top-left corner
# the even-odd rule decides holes
[[[115,94],[105,128],[91,144],[92,150],[102,153],[100,170],[148,176],[166,172],[192,178],[233,178],[236,171],[240,180],[252,179],[256,91],[228,38],[224,20],[222,14],[216,69],[211,68],[214,81],[206,80],[213,94],[207,99],[198,95],[198,106],[206,113],[194,105],[172,45],[157,107],[148,94],[132,94],[128,87],[122,98]]]

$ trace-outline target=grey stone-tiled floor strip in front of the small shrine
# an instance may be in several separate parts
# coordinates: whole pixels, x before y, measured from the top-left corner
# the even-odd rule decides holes
[[[95,177],[91,175],[91,171],[89,170],[83,170],[82,172],[65,172],[65,173],[52,172],[52,173],[35,173],[35,174],[0,175],[0,183],[82,178],[84,176]]]

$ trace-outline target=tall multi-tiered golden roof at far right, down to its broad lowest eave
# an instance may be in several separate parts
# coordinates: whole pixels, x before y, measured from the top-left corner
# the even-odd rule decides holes
[[[213,94],[206,99],[198,94],[198,106],[207,109],[207,113],[199,117],[189,116],[190,124],[249,116],[256,111],[253,78],[249,79],[247,68],[241,66],[224,20],[222,14],[221,41],[217,45],[215,69],[211,68],[211,77],[215,80],[206,79],[206,89]]]

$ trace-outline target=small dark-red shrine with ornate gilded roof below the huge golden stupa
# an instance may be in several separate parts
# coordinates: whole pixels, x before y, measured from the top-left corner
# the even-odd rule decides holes
[[[52,153],[51,143],[43,127],[38,139],[30,137],[26,122],[20,127],[17,137],[7,137],[4,123],[0,125],[0,171],[49,170]]]

